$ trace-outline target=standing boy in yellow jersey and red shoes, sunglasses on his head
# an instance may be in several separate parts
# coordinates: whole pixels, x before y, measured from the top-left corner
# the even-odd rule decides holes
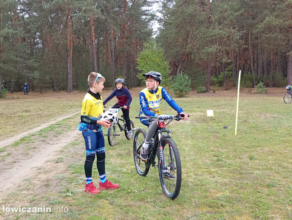
[[[110,125],[107,120],[99,120],[104,109],[100,92],[104,88],[105,78],[99,73],[91,72],[87,81],[89,89],[82,102],[81,122],[79,122],[78,130],[82,131],[86,146],[84,191],[97,194],[100,193],[98,189],[117,189],[119,185],[112,184],[105,177],[105,139],[102,134],[102,126],[109,128]],[[92,182],[92,165],[95,154],[97,157],[96,167],[100,176],[98,189]]]

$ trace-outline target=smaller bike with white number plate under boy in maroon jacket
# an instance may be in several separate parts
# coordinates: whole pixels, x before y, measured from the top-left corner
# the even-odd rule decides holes
[[[108,106],[105,106],[105,108],[109,108]],[[119,110],[120,108],[109,108],[109,112],[112,112],[113,114],[118,115],[119,114]],[[114,143],[116,142],[116,138],[117,136],[120,136],[120,134],[117,134],[117,126],[119,126],[120,131],[124,131],[125,132],[125,136],[128,140],[133,138],[133,135],[131,137],[128,137],[128,128],[126,125],[126,120],[124,119],[124,115],[121,115],[121,118],[118,117],[118,122],[117,124],[115,124],[113,127],[110,127],[107,131],[107,134],[104,134],[105,136],[107,136],[107,141],[109,142],[109,145],[113,146]],[[122,125],[119,122],[122,122]],[[134,122],[132,120],[131,121],[131,130],[135,131],[135,126],[134,126]]]

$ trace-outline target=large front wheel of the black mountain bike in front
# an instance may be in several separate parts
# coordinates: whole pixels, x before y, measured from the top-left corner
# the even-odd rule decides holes
[[[175,199],[180,193],[182,182],[182,170],[180,164],[180,155],[178,148],[171,138],[164,138],[162,141],[162,150],[164,156],[164,165],[168,168],[167,172],[163,172],[159,158],[158,170],[159,179],[164,194],[170,198]],[[160,156],[159,156],[160,157]]]

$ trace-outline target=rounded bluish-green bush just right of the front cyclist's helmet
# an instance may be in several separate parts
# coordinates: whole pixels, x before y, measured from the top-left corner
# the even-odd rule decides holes
[[[189,94],[189,92],[192,90],[190,85],[191,79],[189,79],[189,77],[183,72],[180,72],[178,76],[173,78],[173,93],[178,97],[183,97]]]

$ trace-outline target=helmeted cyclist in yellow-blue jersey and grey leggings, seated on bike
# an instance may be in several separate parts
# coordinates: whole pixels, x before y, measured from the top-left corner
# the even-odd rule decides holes
[[[182,108],[178,106],[177,103],[171,98],[171,96],[168,94],[166,89],[162,86],[158,86],[162,82],[162,77],[159,72],[148,72],[145,74],[142,74],[142,76],[146,79],[146,87],[140,92],[140,112],[139,116],[154,116],[161,114],[160,106],[162,103],[162,99],[164,99],[168,105],[171,106],[174,110],[178,112],[178,114],[181,115],[181,117],[184,117],[184,120],[187,119],[187,113],[183,111]],[[147,135],[145,138],[144,143],[142,144],[142,150],[140,151],[140,157],[142,160],[147,160],[147,151],[148,146],[151,141],[151,138],[156,132],[156,129],[158,128],[158,121],[153,120],[152,122],[140,119],[142,124],[145,124],[148,127]],[[165,178],[168,179],[176,179],[175,176],[172,176],[171,173],[168,170],[163,171],[163,175]]]

